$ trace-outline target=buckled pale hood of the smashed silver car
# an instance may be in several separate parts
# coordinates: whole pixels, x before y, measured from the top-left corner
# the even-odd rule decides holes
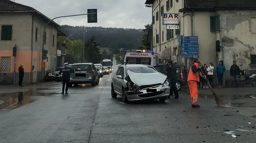
[[[131,81],[138,86],[143,85],[151,85],[151,84],[157,84],[157,83],[164,83],[167,76],[157,72],[157,73],[135,73],[131,71],[127,71]]]

